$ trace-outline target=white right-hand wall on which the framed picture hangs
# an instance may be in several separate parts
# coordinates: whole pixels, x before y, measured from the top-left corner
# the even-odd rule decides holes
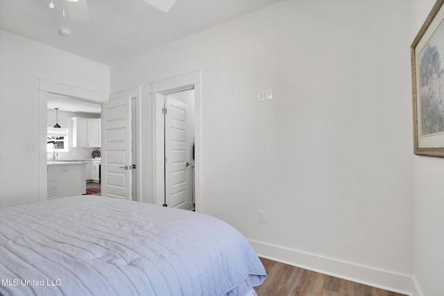
[[[411,40],[435,1],[414,1]],[[444,295],[444,159],[413,156],[414,277],[418,295]]]

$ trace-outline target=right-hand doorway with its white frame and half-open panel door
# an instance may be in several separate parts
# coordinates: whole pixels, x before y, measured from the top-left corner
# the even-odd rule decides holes
[[[153,83],[153,203],[202,211],[200,71]]]

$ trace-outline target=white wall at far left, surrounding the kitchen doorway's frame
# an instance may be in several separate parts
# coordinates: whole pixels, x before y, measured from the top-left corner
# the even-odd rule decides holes
[[[110,68],[5,31],[0,64],[0,205],[38,201],[37,78],[109,94]]]

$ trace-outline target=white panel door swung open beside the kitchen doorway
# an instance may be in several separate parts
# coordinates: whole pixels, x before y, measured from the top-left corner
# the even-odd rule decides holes
[[[102,103],[101,193],[131,200],[131,100]]]

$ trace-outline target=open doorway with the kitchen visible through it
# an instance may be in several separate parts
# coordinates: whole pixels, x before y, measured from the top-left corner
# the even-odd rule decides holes
[[[48,199],[101,195],[101,103],[46,98]]]

